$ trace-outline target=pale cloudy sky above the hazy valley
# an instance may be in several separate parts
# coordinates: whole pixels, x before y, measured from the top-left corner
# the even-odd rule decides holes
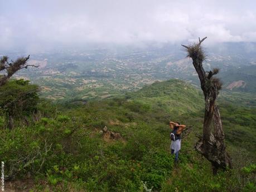
[[[0,0],[0,49],[256,42],[255,0]]]

